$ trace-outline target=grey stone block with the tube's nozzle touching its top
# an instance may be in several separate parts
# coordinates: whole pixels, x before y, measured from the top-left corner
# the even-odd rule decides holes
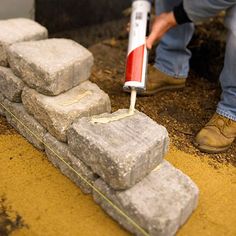
[[[138,111],[107,124],[82,118],[72,124],[67,135],[73,154],[114,189],[126,189],[142,180],[162,162],[169,143],[166,129]]]

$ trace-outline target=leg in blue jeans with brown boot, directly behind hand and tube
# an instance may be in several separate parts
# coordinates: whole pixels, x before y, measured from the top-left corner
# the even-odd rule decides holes
[[[181,0],[156,0],[156,15],[172,11]],[[191,52],[187,45],[192,38],[194,25],[186,23],[169,30],[156,48],[153,67],[149,67],[146,90],[142,95],[153,95],[163,90],[185,87]]]

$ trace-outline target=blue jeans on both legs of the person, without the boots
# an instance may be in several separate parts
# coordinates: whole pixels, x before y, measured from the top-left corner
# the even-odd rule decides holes
[[[180,2],[181,0],[156,0],[156,14],[171,11]],[[204,4],[204,1],[202,3]],[[191,1],[188,1],[188,4],[191,5]],[[201,1],[198,1],[196,5],[201,5]],[[194,10],[200,11],[200,14],[204,16],[204,11],[201,12],[201,9]],[[228,28],[228,37],[224,67],[220,75],[222,95],[217,106],[217,113],[236,121],[236,5],[227,9],[225,25]],[[179,25],[168,31],[156,48],[154,66],[178,79],[186,78],[191,57],[187,45],[193,32],[192,23]]]

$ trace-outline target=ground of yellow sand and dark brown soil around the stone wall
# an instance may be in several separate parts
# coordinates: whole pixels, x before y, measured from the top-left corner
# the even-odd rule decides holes
[[[125,21],[52,35],[72,38],[94,53],[91,80],[109,94],[113,111],[129,106],[121,82]],[[200,188],[199,206],[178,235],[236,235],[236,144],[217,155],[203,154],[192,145],[220,96],[217,78],[225,46],[221,23],[219,18],[197,28],[190,44],[194,56],[185,89],[137,101],[138,110],[168,129],[167,160]],[[129,235],[0,118],[0,235],[9,234]]]

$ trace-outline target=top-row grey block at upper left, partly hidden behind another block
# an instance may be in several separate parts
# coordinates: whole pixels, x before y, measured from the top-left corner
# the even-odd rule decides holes
[[[6,50],[9,45],[47,37],[47,29],[35,21],[24,18],[0,20],[0,65],[8,65]]]

